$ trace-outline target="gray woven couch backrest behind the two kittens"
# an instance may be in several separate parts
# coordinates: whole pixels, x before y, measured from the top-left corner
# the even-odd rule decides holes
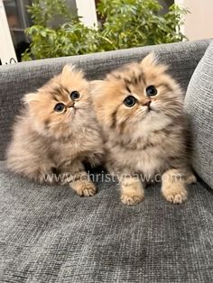
[[[0,67],[0,160],[5,158],[5,147],[11,136],[14,115],[19,112],[23,94],[41,87],[60,72],[66,63],[83,68],[88,78],[101,78],[107,71],[126,62],[142,59],[150,51],[171,66],[171,74],[186,89],[191,74],[208,47],[209,41],[189,41],[152,47],[118,50],[59,59],[43,59]]]

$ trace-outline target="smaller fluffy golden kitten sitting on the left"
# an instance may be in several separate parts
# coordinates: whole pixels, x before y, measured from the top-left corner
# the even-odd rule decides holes
[[[88,90],[84,74],[66,65],[37,92],[24,96],[7,151],[8,168],[40,183],[70,182],[80,196],[93,196],[96,187],[83,161],[97,165],[104,151]]]

